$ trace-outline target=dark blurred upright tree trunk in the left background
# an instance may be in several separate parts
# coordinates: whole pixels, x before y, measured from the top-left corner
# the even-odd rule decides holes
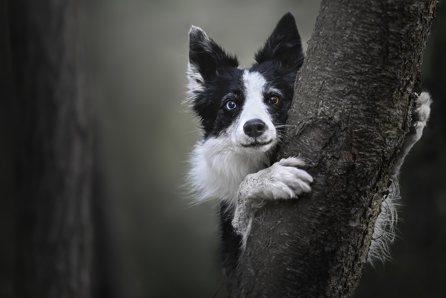
[[[91,297],[94,125],[83,14],[83,1],[8,1],[18,297]]]

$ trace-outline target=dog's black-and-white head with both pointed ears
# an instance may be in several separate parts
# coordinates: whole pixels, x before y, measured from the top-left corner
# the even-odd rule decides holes
[[[189,95],[204,140],[225,138],[228,147],[266,152],[283,140],[283,125],[304,55],[291,13],[278,22],[250,69],[206,33],[189,31]]]

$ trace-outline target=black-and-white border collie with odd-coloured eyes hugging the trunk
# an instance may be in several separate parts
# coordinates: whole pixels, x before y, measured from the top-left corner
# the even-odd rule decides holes
[[[189,31],[189,98],[202,127],[190,159],[189,181],[197,202],[219,202],[222,261],[228,279],[244,251],[256,210],[266,201],[293,199],[310,192],[313,178],[301,159],[274,163],[285,141],[285,121],[297,71],[304,61],[301,37],[291,13],[285,14],[255,55],[240,69],[235,56],[195,26]],[[369,261],[388,256],[394,238],[397,176],[410,147],[429,117],[429,94],[416,101],[413,123],[392,170],[391,193],[382,203]]]

